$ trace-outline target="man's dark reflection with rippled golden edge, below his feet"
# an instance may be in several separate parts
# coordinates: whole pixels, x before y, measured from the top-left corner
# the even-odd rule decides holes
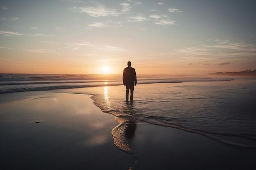
[[[132,111],[134,111],[132,105],[127,104],[126,112],[131,113]],[[121,150],[131,151],[132,140],[137,128],[136,121],[131,116],[118,116],[115,119],[119,125],[112,130],[114,144]]]

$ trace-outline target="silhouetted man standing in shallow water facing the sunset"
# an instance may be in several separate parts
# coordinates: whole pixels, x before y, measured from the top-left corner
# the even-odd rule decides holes
[[[129,90],[131,90],[130,101],[132,102],[134,86],[137,84],[136,72],[135,69],[131,67],[131,64],[130,61],[127,62],[128,67],[124,68],[123,73],[123,83],[126,86],[126,102],[128,102],[129,99]]]

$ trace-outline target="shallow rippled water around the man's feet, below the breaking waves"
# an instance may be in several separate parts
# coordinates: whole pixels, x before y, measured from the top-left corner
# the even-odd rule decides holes
[[[256,80],[138,84],[134,102],[125,86],[55,90],[93,94],[103,112],[195,132],[223,144],[256,149]],[[126,121],[124,121],[126,122]],[[114,134],[115,136],[115,134]]]

